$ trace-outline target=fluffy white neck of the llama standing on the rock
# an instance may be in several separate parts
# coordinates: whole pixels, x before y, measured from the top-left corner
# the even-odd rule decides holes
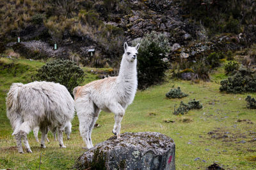
[[[125,59],[125,57],[122,57],[121,65],[119,74],[117,76],[118,84],[122,87],[131,88],[131,86],[134,86],[134,88],[137,88],[137,60],[134,60],[133,62],[129,62]],[[128,88],[128,87],[127,87]]]

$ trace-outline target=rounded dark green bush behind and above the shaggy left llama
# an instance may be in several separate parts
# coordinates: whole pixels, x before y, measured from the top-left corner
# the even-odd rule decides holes
[[[37,81],[52,81],[67,87],[72,94],[74,87],[84,80],[84,71],[70,60],[53,60],[38,69]]]

